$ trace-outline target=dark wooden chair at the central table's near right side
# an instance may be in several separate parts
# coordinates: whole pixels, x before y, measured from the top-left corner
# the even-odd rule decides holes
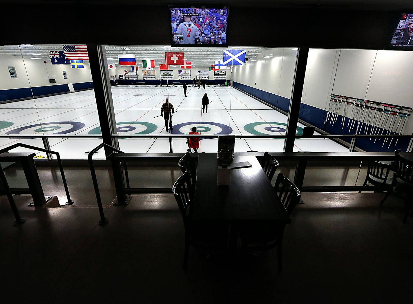
[[[275,191],[282,204],[291,214],[300,200],[301,193],[291,180],[279,173],[275,181]],[[278,202],[277,202],[278,203]],[[282,235],[285,225],[276,225],[268,222],[257,222],[240,227],[240,238],[244,252],[254,252],[278,249],[278,270],[282,269]]]

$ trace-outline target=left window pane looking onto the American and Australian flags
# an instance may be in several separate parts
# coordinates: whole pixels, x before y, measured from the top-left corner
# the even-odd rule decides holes
[[[0,133],[10,135],[1,147],[23,142],[13,135],[88,134],[99,127],[88,58],[64,55],[63,45],[0,46]],[[87,157],[87,141],[65,140],[51,140],[52,150],[64,146],[57,150],[62,158]]]

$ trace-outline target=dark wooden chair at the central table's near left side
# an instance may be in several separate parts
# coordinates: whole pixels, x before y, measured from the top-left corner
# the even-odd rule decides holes
[[[178,204],[185,229],[185,254],[183,268],[187,269],[189,246],[204,249],[224,249],[228,240],[228,225],[197,224],[192,221],[194,188],[191,177],[185,172],[172,187],[172,193]]]

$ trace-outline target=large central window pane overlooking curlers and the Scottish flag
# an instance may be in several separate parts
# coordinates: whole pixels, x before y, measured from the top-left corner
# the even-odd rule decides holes
[[[245,51],[245,64],[223,64],[222,48],[105,46],[116,132],[186,135],[195,126],[201,135],[275,135],[262,140],[238,138],[235,151],[282,151],[284,140],[276,135],[285,134],[297,49],[228,49],[235,53]],[[184,53],[185,64],[164,66],[168,52]],[[132,61],[126,61],[129,59]],[[151,60],[153,68],[148,66]],[[127,65],[123,65],[125,61]],[[197,81],[202,79],[205,88],[203,85],[198,88]],[[184,83],[188,86],[186,97]],[[205,94],[209,99],[208,109],[202,106]],[[166,98],[176,110],[170,133],[166,131],[164,117],[159,116]],[[297,128],[298,132],[301,129]],[[168,140],[161,138],[119,142],[121,150],[131,151],[133,146],[134,152],[169,151]],[[204,139],[198,152],[216,152],[217,146],[216,138]],[[185,139],[173,140],[173,152],[186,150]]]

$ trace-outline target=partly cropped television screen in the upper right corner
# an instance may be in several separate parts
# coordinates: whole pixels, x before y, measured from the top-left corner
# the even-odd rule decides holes
[[[413,13],[403,13],[393,32],[390,48],[413,50]]]

